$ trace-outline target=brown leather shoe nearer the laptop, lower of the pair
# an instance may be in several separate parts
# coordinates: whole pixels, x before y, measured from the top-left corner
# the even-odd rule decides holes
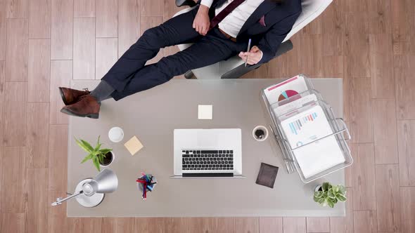
[[[60,109],[60,112],[68,114],[70,116],[80,116],[98,119],[99,108],[101,104],[96,101],[96,98],[92,95],[82,96],[78,102],[73,105],[67,105]]]

